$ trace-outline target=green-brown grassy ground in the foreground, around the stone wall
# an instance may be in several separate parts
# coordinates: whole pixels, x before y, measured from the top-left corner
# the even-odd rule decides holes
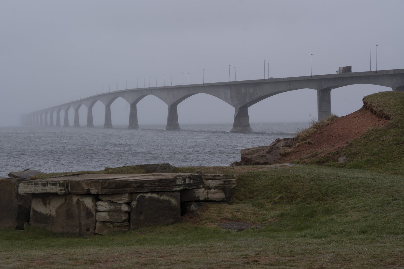
[[[3,229],[1,266],[404,266],[402,176],[319,166],[177,170],[238,173],[232,204],[212,204],[176,225],[105,236]],[[223,221],[245,221],[262,229],[234,232],[215,227]]]

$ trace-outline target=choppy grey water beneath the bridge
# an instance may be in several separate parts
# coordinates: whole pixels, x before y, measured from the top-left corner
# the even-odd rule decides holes
[[[307,123],[251,124],[254,132],[229,132],[231,124],[104,128],[0,127],[0,177],[26,168],[43,172],[100,170],[168,162],[174,166],[228,166],[240,149],[292,137]]]

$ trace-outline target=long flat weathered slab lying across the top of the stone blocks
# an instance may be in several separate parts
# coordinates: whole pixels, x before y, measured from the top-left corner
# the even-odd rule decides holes
[[[200,188],[202,174],[80,174],[20,184],[19,193],[114,194]]]

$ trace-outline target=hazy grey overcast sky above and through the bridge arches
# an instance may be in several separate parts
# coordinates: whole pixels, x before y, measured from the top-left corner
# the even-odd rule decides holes
[[[0,0],[0,126],[20,115],[94,95],[149,84],[274,78],[404,68],[402,0]],[[137,79],[138,78],[138,79]],[[125,85],[126,87],[126,85]],[[362,97],[391,90],[355,85],[331,91],[338,116],[362,106]],[[349,95],[348,95],[349,93]],[[71,109],[72,110],[72,109]],[[103,125],[103,105],[94,109]],[[73,124],[73,111],[70,111]],[[129,105],[112,104],[112,123],[128,123]],[[232,123],[234,108],[205,94],[178,105],[179,123]],[[139,125],[165,124],[167,105],[148,96],[138,104]],[[305,122],[317,117],[315,90],[269,97],[249,108],[250,122]],[[80,124],[86,124],[80,108]]]

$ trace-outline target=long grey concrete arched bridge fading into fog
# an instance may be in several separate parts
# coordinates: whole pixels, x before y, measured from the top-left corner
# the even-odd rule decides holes
[[[318,120],[323,120],[331,114],[331,90],[353,84],[373,84],[390,87],[393,91],[404,91],[404,69],[119,90],[22,115],[21,123],[54,126],[53,114],[56,113],[55,126],[61,126],[60,113],[63,110],[63,126],[69,126],[68,111],[72,107],[74,109],[73,126],[80,127],[78,111],[84,105],[87,108],[86,127],[94,127],[93,106],[97,101],[101,101],[105,105],[104,128],[112,128],[111,104],[118,97],[122,97],[130,104],[128,128],[139,128],[136,105],[147,95],[154,95],[168,105],[166,129],[178,130],[181,128],[178,123],[177,105],[192,95],[206,93],[234,107],[234,124],[231,131],[248,132],[251,131],[248,107],[265,98],[290,90],[303,88],[317,90]]]

